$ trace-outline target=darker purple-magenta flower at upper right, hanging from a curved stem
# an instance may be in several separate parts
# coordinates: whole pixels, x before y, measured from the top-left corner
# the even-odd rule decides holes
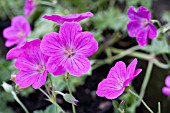
[[[130,21],[127,24],[128,34],[130,37],[136,37],[140,46],[148,44],[148,38],[154,39],[157,35],[157,28],[150,22],[151,13],[148,9],[141,6],[138,11],[134,6],[129,7],[128,17]]]

